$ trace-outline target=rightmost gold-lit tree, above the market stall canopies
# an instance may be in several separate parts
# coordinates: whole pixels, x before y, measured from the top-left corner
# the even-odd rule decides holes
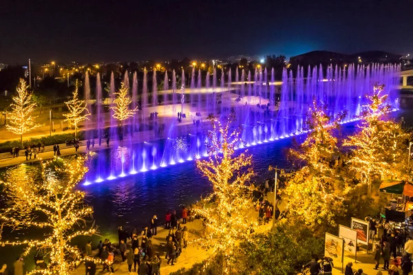
[[[354,149],[349,159],[350,168],[368,185],[369,194],[375,176],[407,180],[405,159],[410,134],[402,129],[401,123],[388,118],[391,107],[383,90],[384,85],[374,85],[372,95],[366,96],[369,103],[363,105],[359,115],[360,131],[343,142]]]

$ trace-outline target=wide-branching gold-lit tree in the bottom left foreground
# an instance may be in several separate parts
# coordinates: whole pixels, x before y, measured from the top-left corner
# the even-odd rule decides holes
[[[17,175],[1,182],[8,201],[8,207],[0,212],[1,228],[37,228],[44,234],[34,240],[0,239],[0,245],[25,245],[25,255],[37,250],[49,256],[50,265],[41,271],[43,274],[71,274],[70,270],[85,260],[71,245],[72,239],[96,232],[94,223],[86,220],[93,210],[83,203],[85,192],[76,190],[87,172],[84,164],[85,157],[76,157],[70,163],[53,159],[41,162],[41,180]]]

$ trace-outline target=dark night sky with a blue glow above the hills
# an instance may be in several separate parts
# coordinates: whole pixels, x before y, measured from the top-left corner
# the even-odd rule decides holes
[[[412,0],[0,0],[0,63],[413,52]]]

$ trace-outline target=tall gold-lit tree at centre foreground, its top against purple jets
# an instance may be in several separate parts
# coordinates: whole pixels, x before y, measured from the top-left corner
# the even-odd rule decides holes
[[[237,146],[242,146],[240,130],[230,129],[230,117],[225,125],[212,118],[209,131],[209,157],[198,159],[196,166],[213,186],[213,192],[198,203],[193,212],[205,219],[204,238],[195,241],[201,248],[222,256],[223,273],[233,270],[239,242],[251,238],[255,227],[251,217],[252,186],[247,183],[253,176],[251,155],[234,156]]]

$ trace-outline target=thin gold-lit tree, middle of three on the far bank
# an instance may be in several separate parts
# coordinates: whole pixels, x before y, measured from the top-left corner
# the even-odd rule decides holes
[[[83,120],[89,120],[87,118],[90,113],[87,109],[87,103],[85,100],[80,100],[78,98],[78,85],[76,80],[76,88],[73,91],[73,99],[65,102],[68,113],[63,114],[65,116],[65,121],[69,122],[70,125],[74,126],[74,137],[77,135],[78,124]]]

